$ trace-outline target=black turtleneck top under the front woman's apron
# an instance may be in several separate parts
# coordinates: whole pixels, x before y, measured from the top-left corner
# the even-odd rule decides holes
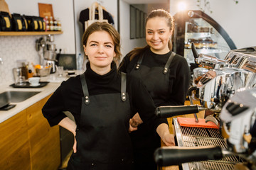
[[[87,62],[87,70],[84,74],[90,96],[121,93],[121,74],[117,72],[117,66],[114,62],[112,62],[111,67],[110,72],[99,75],[92,71],[90,63]],[[138,112],[142,120],[149,124],[152,123],[151,125],[154,125],[154,128],[161,123],[167,123],[166,120],[157,119],[154,115],[154,102],[140,79],[127,75],[127,93],[132,116]],[[63,81],[42,109],[43,115],[50,126],[58,125],[60,120],[66,117],[63,111],[70,111],[75,118],[75,122],[80,123],[82,96],[84,95],[80,76]]]

